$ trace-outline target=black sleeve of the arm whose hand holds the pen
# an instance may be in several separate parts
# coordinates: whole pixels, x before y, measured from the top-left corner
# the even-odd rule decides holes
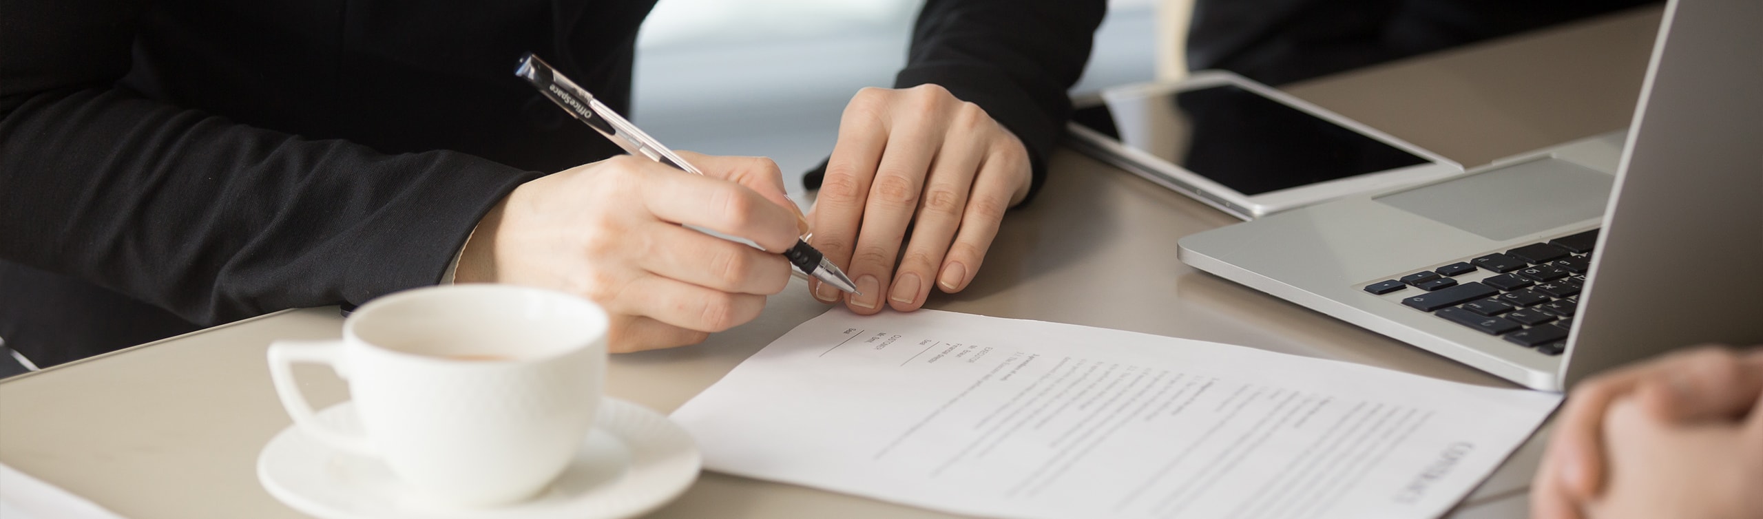
[[[0,257],[201,324],[432,285],[536,172],[146,100],[138,2],[0,2]]]

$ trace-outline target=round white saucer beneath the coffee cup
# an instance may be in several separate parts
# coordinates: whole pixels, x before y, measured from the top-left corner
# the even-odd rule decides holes
[[[360,431],[354,405],[317,413],[344,431]],[[257,456],[257,480],[272,496],[326,519],[587,519],[647,514],[698,479],[702,457],[691,436],[640,405],[606,398],[594,429],[550,489],[495,508],[437,508],[404,487],[379,459],[337,452],[293,426]]]

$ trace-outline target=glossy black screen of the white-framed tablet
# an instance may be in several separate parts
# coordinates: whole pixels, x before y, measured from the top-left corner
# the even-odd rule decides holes
[[[1426,164],[1234,84],[1116,99],[1072,120],[1245,195]]]

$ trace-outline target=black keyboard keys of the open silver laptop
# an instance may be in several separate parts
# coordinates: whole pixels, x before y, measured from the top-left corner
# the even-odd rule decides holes
[[[1377,281],[1365,292],[1402,297],[1409,308],[1560,355],[1596,243],[1592,229]]]

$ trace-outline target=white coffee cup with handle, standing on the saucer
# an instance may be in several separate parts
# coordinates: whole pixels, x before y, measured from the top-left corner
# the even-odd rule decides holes
[[[319,422],[291,364],[349,382],[365,435]],[[511,285],[405,290],[363,304],[338,341],[277,341],[270,375],[301,433],[383,459],[437,505],[534,496],[568,466],[599,406],[606,313]]]

